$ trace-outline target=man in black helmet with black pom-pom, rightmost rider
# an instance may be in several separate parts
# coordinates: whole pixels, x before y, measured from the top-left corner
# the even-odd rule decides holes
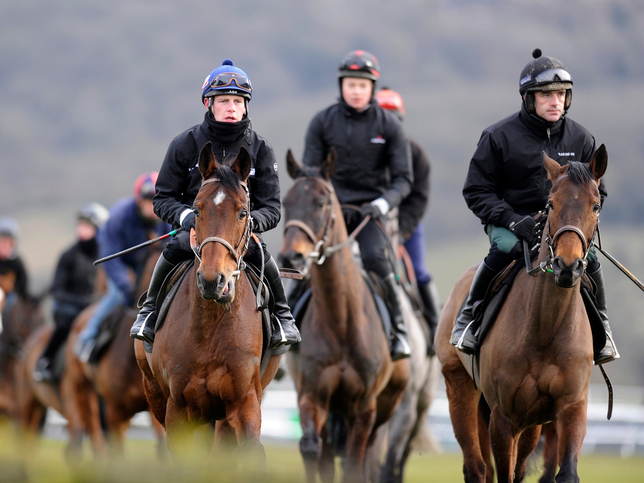
[[[463,187],[468,207],[485,225],[491,243],[451,334],[451,344],[466,354],[478,349],[473,337],[475,302],[484,298],[491,280],[508,263],[522,257],[522,240],[530,246],[536,242],[534,215],[545,208],[552,185],[542,151],[564,166],[570,161],[589,163],[596,150],[591,133],[566,117],[573,95],[569,71],[557,59],[542,57],[539,49],[533,57],[520,76],[521,110],[483,131]],[[599,191],[603,204],[603,182]],[[603,364],[620,355],[612,340],[603,275],[594,249],[587,260],[586,272],[596,284],[597,309],[607,334],[606,346],[594,362]]]

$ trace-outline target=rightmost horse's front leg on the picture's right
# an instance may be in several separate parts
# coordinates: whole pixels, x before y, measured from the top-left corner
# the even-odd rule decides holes
[[[587,403],[587,399],[584,398],[582,401],[569,404],[557,412],[559,473],[554,478],[557,483],[579,482],[577,460],[582,451],[583,438],[586,435]]]

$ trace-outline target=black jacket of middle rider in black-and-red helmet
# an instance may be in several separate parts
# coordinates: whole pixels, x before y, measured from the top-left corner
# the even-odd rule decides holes
[[[372,100],[362,112],[343,100],[317,113],[308,126],[304,166],[320,166],[337,151],[332,182],[341,203],[360,205],[383,197],[398,206],[410,193],[410,155],[403,127]]]

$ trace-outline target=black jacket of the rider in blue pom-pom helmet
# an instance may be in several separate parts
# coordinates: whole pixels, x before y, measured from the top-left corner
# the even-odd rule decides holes
[[[235,123],[238,135],[227,142],[216,133],[218,124],[208,112],[204,122],[184,131],[172,140],[156,180],[153,200],[155,213],[164,222],[178,227],[181,213],[192,209],[194,198],[201,187],[202,176],[196,166],[199,153],[208,141],[213,143],[215,158],[222,162],[238,155],[242,146],[251,154],[252,169],[248,185],[251,193],[253,230],[265,232],[279,223],[278,165],[272,146],[249,127],[247,120]],[[231,126],[232,127],[232,126]]]

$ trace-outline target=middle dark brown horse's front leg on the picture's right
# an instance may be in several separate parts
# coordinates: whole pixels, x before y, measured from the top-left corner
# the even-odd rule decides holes
[[[365,455],[374,430],[376,398],[363,401],[350,419],[346,437],[345,482],[365,482]]]

